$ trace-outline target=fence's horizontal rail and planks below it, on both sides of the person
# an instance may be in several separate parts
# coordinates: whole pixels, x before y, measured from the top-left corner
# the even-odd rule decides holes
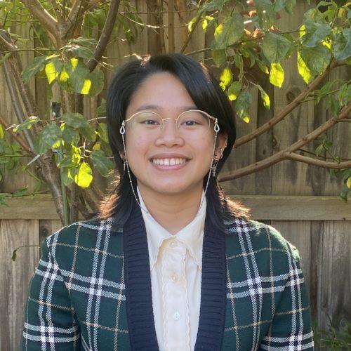
[[[351,203],[338,197],[232,195],[253,218],[297,246],[310,291],[312,318],[327,329],[351,320]],[[41,241],[61,227],[49,195],[13,199],[0,215],[0,351],[18,350],[29,279]],[[19,246],[16,260],[13,250]]]

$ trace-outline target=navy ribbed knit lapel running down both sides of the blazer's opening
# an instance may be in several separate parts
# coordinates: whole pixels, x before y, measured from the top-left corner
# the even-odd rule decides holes
[[[154,314],[150,260],[141,209],[133,201],[124,225],[124,274],[126,310],[132,350],[159,350]],[[194,351],[220,350],[225,328],[225,233],[213,227],[206,209],[202,251],[199,329]]]

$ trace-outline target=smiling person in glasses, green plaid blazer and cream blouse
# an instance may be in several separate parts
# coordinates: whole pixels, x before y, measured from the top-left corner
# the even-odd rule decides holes
[[[218,185],[234,115],[206,67],[129,62],[107,121],[119,184],[44,241],[23,350],[312,350],[296,248]]]

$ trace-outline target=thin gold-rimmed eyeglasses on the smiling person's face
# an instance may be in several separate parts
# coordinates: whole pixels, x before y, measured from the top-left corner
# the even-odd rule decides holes
[[[125,133],[125,126],[131,128],[133,133],[159,133],[164,129],[164,121],[173,119],[176,122],[178,132],[183,136],[192,138],[204,136],[208,133],[211,120],[214,122],[214,131],[219,131],[218,120],[207,112],[201,110],[188,110],[174,118],[162,118],[159,114],[152,111],[140,111],[133,114],[122,122],[120,133]]]

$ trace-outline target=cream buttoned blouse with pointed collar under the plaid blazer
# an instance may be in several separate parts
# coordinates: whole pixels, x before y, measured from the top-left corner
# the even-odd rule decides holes
[[[140,205],[145,203],[138,190]],[[194,350],[201,300],[206,197],[197,216],[176,234],[143,213],[147,233],[152,308],[160,351]]]

